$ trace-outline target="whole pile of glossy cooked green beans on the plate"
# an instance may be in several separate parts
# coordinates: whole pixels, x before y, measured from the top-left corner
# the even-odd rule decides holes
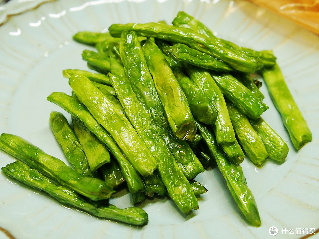
[[[245,158],[256,167],[268,159],[284,163],[289,148],[261,117],[269,107],[252,73],[263,76],[295,149],[312,140],[272,51],[219,39],[182,11],[172,25],[113,24],[107,33],[79,32],[73,39],[91,47],[82,58],[94,72],[63,70],[72,95],[47,98],[71,115],[71,122],[60,112],[49,116],[70,166],[1,134],[0,149],[17,159],[4,174],[64,205],[142,226],[148,215],[138,204],[149,197],[167,196],[184,214],[198,209],[207,189],[194,179],[213,163],[242,216],[259,227],[240,164]],[[109,204],[123,187],[134,207]]]

